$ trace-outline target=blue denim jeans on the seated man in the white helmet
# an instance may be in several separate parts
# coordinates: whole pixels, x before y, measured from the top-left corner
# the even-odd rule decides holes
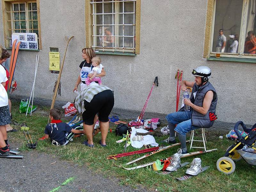
[[[190,132],[192,130],[199,128],[198,126],[192,125],[191,115],[192,115],[192,110],[191,111],[178,111],[178,112],[168,114],[165,118],[167,119],[167,121],[170,124],[172,124],[172,125],[177,124],[174,131],[180,133],[181,135],[186,136],[187,132]],[[170,129],[171,129],[171,127],[170,127]]]

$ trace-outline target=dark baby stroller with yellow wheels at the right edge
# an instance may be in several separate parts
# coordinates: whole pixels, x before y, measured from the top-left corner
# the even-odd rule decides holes
[[[238,126],[241,125],[248,134],[242,137],[238,131]],[[216,163],[217,169],[225,174],[231,174],[235,171],[236,165],[234,161],[239,161],[242,158],[251,165],[256,165],[256,124],[251,129],[247,129],[242,121],[238,121],[234,127],[237,135],[235,144],[228,147],[225,155],[220,157]],[[245,149],[244,146],[247,146]],[[254,153],[253,153],[254,152]]]

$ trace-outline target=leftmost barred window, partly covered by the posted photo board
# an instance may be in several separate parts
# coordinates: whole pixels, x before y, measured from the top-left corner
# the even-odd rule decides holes
[[[41,48],[39,0],[4,0],[3,5],[5,46],[12,46],[12,33],[36,33]]]

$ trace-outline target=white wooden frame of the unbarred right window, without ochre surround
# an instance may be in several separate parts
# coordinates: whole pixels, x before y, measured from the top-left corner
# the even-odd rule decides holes
[[[233,57],[233,58],[251,58],[255,59],[256,54],[244,54],[244,40],[246,38],[246,25],[247,25],[247,15],[249,8],[250,0],[243,0],[243,8],[242,8],[242,18],[241,18],[241,28],[239,35],[239,44],[238,44],[238,52],[237,53],[220,53],[220,57]],[[216,11],[216,0],[214,0],[213,4],[213,14],[212,14],[212,31],[211,31],[211,44],[210,44],[210,56],[216,56],[217,52],[212,51],[213,44],[213,33],[214,33],[214,24],[215,24],[215,11]]]

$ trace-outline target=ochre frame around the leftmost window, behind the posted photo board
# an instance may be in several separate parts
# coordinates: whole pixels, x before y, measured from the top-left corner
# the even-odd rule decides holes
[[[36,9],[37,9],[37,25],[38,25],[38,49],[42,50],[42,40],[41,40],[41,21],[40,21],[40,0],[2,0],[2,13],[3,13],[3,26],[4,26],[4,45],[8,49],[9,46],[9,38],[12,36],[12,33],[15,31],[13,28],[13,21],[9,22],[8,20],[12,20],[12,14],[11,12],[11,6],[15,3],[25,3],[25,6],[27,7],[28,3],[36,3]],[[26,12],[26,20],[27,18],[27,12]],[[28,22],[28,21],[26,21]],[[28,25],[29,27],[29,25]],[[12,29],[11,32],[9,29]],[[25,29],[27,30],[27,28]],[[20,49],[20,50],[28,50],[28,51],[37,51],[37,50],[30,50],[30,49]]]

